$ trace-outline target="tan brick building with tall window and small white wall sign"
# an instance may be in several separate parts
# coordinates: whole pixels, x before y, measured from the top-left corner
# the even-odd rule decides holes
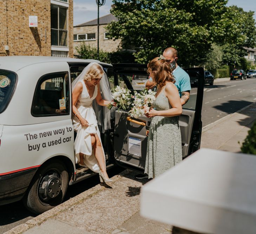
[[[2,0],[0,12],[1,56],[73,57],[73,0]]]

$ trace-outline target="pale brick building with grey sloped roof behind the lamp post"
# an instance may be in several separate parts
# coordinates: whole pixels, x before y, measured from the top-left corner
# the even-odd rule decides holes
[[[114,41],[107,38],[105,27],[113,20],[116,21],[117,18],[112,14],[108,14],[99,18],[99,48],[103,51],[116,51],[121,42],[120,39]],[[75,49],[76,46],[79,46],[82,41],[92,47],[97,47],[97,23],[98,19],[95,19],[85,22],[84,24],[74,26],[74,55],[77,55],[77,51]]]

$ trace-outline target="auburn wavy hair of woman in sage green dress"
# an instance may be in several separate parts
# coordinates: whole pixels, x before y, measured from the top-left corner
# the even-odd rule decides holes
[[[147,72],[153,74],[152,79],[158,87],[165,86],[166,81],[175,83],[170,63],[166,62],[165,59],[159,59],[159,57],[152,59],[147,63]]]

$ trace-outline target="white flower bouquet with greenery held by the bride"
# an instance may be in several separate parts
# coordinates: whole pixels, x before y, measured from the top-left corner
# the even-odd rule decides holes
[[[112,89],[112,98],[113,101],[107,105],[107,108],[111,109],[114,102],[118,109],[127,109],[131,105],[131,91],[127,88],[116,86]]]

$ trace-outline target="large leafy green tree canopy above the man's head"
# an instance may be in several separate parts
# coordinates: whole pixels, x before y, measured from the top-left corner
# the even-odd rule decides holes
[[[198,66],[208,61],[213,43],[223,46],[225,59],[226,45],[237,44],[241,48],[255,42],[252,12],[241,17],[241,9],[227,7],[227,2],[113,0],[111,13],[118,21],[111,22],[107,30],[113,39],[122,39],[124,48],[137,50],[134,53],[137,62],[148,62],[173,46],[179,52],[180,65]],[[230,60],[228,57],[224,62]]]

